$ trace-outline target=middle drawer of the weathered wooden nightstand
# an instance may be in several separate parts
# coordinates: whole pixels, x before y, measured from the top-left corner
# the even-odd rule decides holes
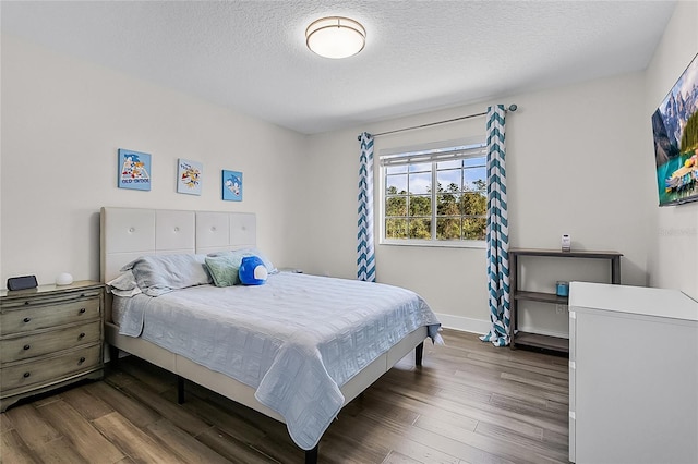
[[[0,363],[27,359],[43,354],[70,350],[79,345],[95,343],[101,337],[101,320],[45,330],[31,335],[5,339],[0,344]]]

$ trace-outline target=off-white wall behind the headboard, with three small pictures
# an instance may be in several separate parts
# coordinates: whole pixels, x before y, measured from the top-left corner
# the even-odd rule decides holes
[[[99,278],[99,208],[254,211],[257,244],[290,265],[305,137],[2,36],[0,284],[61,271]],[[152,154],[151,192],[117,188],[117,150]],[[201,196],[176,193],[178,158],[204,164]],[[221,169],[243,172],[241,203]]]

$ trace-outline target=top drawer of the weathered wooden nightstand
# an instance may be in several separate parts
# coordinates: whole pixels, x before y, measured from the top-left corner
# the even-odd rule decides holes
[[[21,307],[21,308],[20,308]],[[3,307],[0,315],[0,335],[45,329],[59,325],[99,318],[99,296],[84,296],[49,305],[38,298],[24,301],[16,309]]]

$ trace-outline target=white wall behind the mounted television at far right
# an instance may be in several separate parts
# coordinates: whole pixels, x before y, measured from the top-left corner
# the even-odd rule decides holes
[[[647,70],[646,157],[653,156],[650,117],[698,52],[698,2],[682,1]],[[649,181],[653,182],[654,175]],[[657,196],[657,195],[655,195]],[[651,218],[651,286],[677,289],[698,300],[698,203],[657,207]]]

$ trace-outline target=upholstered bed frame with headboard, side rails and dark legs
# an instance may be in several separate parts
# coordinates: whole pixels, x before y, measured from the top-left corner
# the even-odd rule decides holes
[[[122,266],[143,255],[202,254],[255,245],[254,213],[103,207],[100,279],[103,282],[115,279]],[[110,296],[105,298],[105,337],[113,363],[121,350],[176,374],[180,403],[184,401],[183,379],[188,379],[284,423],[281,415],[254,398],[253,388],[145,340],[120,335],[118,326],[111,321]],[[419,328],[345,383],[340,388],[345,405],[412,350],[416,364],[421,366],[425,338],[426,328]],[[317,447],[305,450],[305,463],[316,462]]]

